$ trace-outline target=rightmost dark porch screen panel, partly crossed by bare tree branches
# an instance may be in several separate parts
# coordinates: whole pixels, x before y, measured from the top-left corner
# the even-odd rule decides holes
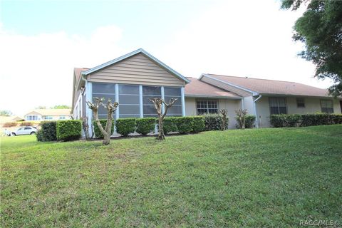
[[[182,116],[182,93],[180,88],[164,87],[164,100],[169,103],[171,98],[177,98],[177,101],[167,110],[167,116]]]

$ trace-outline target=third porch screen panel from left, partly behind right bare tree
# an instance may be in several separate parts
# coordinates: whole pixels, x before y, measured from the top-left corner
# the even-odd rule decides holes
[[[157,111],[149,98],[161,98],[160,86],[142,86],[142,110],[144,117],[157,117]]]

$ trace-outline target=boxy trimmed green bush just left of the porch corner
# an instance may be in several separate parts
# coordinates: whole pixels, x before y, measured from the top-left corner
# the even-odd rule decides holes
[[[78,140],[81,138],[81,120],[58,120],[56,124],[57,140]]]

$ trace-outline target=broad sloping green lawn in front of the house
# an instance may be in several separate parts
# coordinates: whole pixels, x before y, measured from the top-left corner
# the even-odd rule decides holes
[[[342,125],[154,138],[1,138],[1,227],[342,224]]]

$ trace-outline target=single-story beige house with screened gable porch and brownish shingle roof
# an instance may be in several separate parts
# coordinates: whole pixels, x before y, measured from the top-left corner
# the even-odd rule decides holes
[[[341,113],[341,98],[327,90],[301,83],[241,78],[203,73],[182,76],[165,63],[138,49],[94,68],[75,68],[72,110],[76,119],[92,120],[86,101],[94,97],[119,103],[115,118],[155,117],[148,98],[178,98],[168,116],[202,115],[227,109],[229,128],[235,128],[235,110],[256,115],[255,126],[269,127],[269,115],[280,113]],[[106,118],[100,108],[99,117]],[[89,122],[90,123],[90,122]]]

